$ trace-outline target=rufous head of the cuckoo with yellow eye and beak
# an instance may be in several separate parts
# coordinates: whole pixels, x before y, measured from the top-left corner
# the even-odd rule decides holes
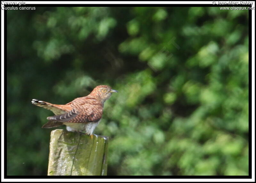
[[[112,93],[116,92],[118,91],[112,90],[111,87],[108,85],[99,85],[93,89],[91,95],[94,95],[97,99],[101,101],[101,103],[104,103],[107,99],[109,99]]]

